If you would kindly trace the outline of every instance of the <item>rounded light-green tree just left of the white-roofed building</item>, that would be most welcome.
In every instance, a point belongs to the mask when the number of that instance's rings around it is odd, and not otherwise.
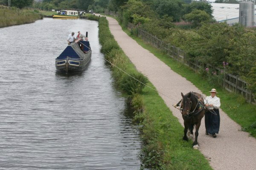
[[[189,14],[184,15],[185,20],[193,23],[195,26],[199,26],[203,21],[209,21],[211,17],[206,11],[195,9]]]

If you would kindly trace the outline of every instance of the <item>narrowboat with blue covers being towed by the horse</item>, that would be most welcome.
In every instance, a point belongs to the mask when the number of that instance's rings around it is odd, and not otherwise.
[[[55,59],[55,67],[61,72],[81,72],[90,63],[92,51],[90,42],[73,42]]]

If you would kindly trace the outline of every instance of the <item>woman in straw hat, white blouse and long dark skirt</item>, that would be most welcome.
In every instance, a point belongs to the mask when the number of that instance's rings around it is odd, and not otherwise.
[[[206,135],[211,134],[215,138],[216,133],[220,129],[220,113],[218,108],[221,106],[221,102],[220,98],[216,96],[218,92],[215,88],[209,92],[211,92],[211,96],[207,96],[204,100],[204,104],[208,108],[204,117],[205,129]]]

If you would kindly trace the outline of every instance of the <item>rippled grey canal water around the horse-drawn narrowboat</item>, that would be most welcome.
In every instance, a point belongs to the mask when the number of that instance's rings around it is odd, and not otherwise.
[[[81,74],[58,74],[72,31],[89,32],[92,60]],[[113,86],[96,21],[44,18],[0,32],[0,169],[140,168],[138,127]]]

